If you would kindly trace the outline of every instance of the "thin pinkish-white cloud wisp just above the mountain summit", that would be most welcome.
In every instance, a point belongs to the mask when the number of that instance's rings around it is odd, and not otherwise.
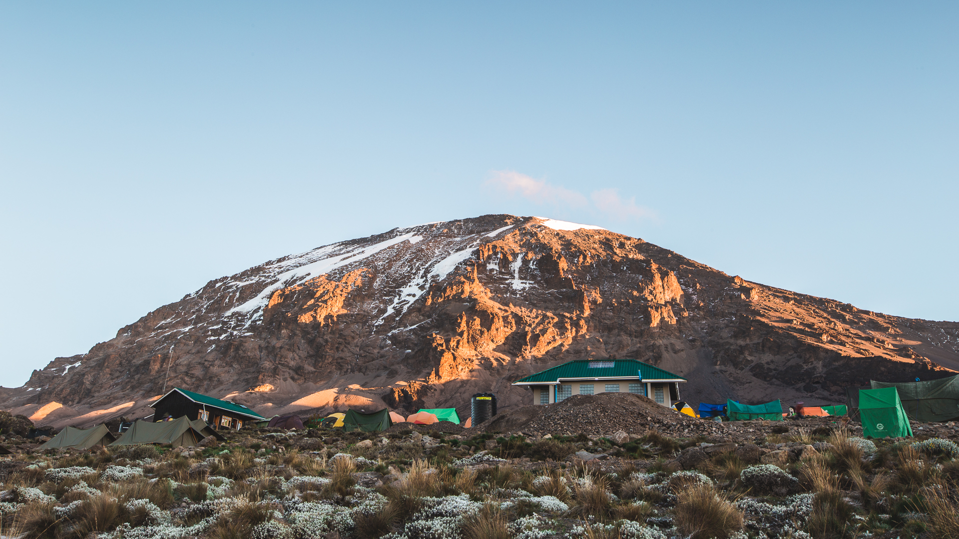
[[[656,217],[652,210],[637,205],[636,197],[620,197],[617,189],[598,189],[587,197],[573,189],[552,185],[545,179],[536,179],[516,171],[494,171],[486,180],[486,185],[509,195],[519,195],[536,204],[551,205],[557,209],[591,210],[617,221]]]

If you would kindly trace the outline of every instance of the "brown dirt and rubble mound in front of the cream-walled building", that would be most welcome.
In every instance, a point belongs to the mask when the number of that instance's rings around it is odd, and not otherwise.
[[[667,409],[633,393],[573,395],[560,403],[509,410],[477,427],[484,433],[613,434],[647,429],[713,430],[712,421]]]

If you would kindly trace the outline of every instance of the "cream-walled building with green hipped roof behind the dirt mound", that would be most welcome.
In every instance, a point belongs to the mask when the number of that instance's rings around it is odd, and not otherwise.
[[[533,404],[560,402],[573,395],[638,393],[669,408],[679,400],[679,385],[686,382],[649,363],[636,360],[574,360],[513,382],[530,387]]]

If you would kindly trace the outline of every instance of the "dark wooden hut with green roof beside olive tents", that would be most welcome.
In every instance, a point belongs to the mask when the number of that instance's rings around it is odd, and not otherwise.
[[[245,422],[266,419],[242,404],[215,399],[181,387],[174,387],[150,406],[154,410],[153,422],[185,416],[191,421],[199,419],[218,430],[238,430]]]

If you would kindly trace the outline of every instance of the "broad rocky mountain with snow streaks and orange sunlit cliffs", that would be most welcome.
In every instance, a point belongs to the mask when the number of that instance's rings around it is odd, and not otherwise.
[[[530,404],[512,381],[583,358],[656,364],[690,380],[693,402],[835,403],[870,379],[959,370],[959,324],[760,285],[598,227],[487,215],[210,281],[0,388],[0,408],[84,424],[145,415],[164,388],[184,387],[266,416],[466,411],[477,391]]]

